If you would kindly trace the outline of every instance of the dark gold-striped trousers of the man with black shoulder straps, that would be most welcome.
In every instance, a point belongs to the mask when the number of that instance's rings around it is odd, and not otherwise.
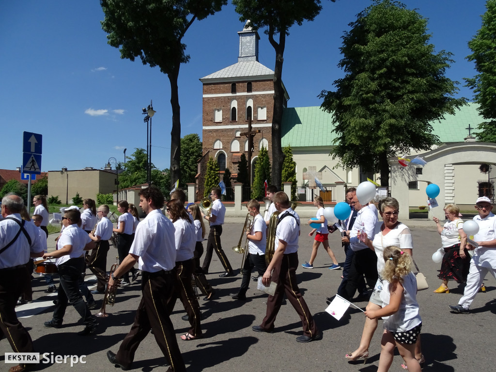
[[[280,267],[275,267],[272,271],[271,281],[275,282],[277,287],[274,296],[267,299],[267,312],[262,320],[261,327],[266,330],[274,329],[274,322],[279,309],[281,309],[284,294],[288,298],[293,308],[296,310],[300,319],[302,319],[303,334],[313,337],[318,334],[317,326],[313,317],[303,299],[296,281],[296,269],[298,267],[298,253],[284,254]],[[377,271],[377,270],[375,270]]]

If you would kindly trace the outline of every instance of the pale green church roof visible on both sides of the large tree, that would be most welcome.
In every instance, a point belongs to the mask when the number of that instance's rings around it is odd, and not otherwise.
[[[473,129],[484,121],[477,111],[478,104],[472,102],[455,110],[455,115],[446,115],[441,121],[432,123],[434,134],[440,142],[463,142],[468,135],[469,124]],[[319,106],[292,107],[284,110],[282,118],[282,145],[291,147],[332,146],[336,133],[332,131],[332,114]]]

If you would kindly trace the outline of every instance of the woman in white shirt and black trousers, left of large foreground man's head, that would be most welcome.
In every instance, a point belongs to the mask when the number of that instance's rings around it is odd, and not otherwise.
[[[132,232],[134,230],[134,218],[131,216],[127,210],[129,209],[129,204],[126,200],[121,200],[117,204],[117,210],[122,213],[117,220],[117,229],[114,228],[114,232],[117,233],[117,252],[119,254],[119,263],[121,263],[124,258],[129,254],[129,249],[132,245]],[[133,280],[136,278],[136,269],[131,267],[129,270],[132,273]],[[130,284],[129,281],[129,271],[123,275],[121,280],[121,286],[126,286]]]

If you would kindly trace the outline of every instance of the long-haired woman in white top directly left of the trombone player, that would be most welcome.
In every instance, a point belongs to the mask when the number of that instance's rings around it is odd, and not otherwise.
[[[193,276],[196,279],[196,286],[200,289],[201,293],[205,296],[203,300],[208,301],[213,299],[214,290],[210,283],[207,281],[203,270],[201,269],[200,258],[203,254],[203,240],[205,239],[205,224],[201,217],[200,207],[198,204],[191,204],[187,208],[188,213],[193,217],[193,225],[196,236],[196,245],[194,247],[194,271]]]

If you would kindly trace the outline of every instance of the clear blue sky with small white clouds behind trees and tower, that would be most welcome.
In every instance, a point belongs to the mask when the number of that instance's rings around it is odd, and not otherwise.
[[[475,73],[467,42],[481,27],[484,0],[405,0],[429,19],[436,52],[454,54],[446,71],[460,82],[459,96],[472,100],[463,78]],[[370,0],[322,0],[313,22],[294,26],[287,38],[283,81],[288,106],[319,106],[321,90],[343,76],[337,67],[343,32]],[[43,134],[42,171],[102,168],[110,157],[124,161],[146,147],[141,109],[153,99],[152,161],[170,166],[172,112],[167,76],[140,60],[122,60],[101,29],[99,1],[19,0],[0,2],[0,168],[22,163],[22,132]],[[182,136],[201,138],[199,78],[237,62],[244,22],[229,4],[195,21],[184,42],[191,60],[181,66]],[[259,62],[274,68],[274,51],[260,32]]]

